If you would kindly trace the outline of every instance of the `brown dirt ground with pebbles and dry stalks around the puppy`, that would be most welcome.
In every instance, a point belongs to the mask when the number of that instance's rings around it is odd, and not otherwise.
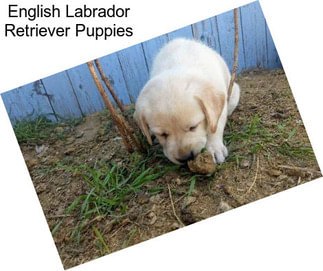
[[[129,163],[107,113],[58,125],[39,145],[21,144],[49,228],[60,225],[54,240],[65,268],[107,254],[94,227],[114,252],[321,176],[284,72],[248,71],[237,81],[241,101],[225,132],[230,156],[215,174],[196,175],[193,183],[185,166],[170,171],[126,197],[125,212],[87,221],[78,240],[71,233],[81,218],[65,210],[89,188],[80,172],[67,167]],[[151,193],[152,187],[159,189]]]

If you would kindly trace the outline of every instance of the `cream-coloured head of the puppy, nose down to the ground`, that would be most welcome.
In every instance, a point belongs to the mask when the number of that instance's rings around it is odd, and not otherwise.
[[[225,104],[224,94],[203,80],[162,75],[141,91],[134,117],[152,144],[154,134],[175,164],[194,158],[215,133]]]

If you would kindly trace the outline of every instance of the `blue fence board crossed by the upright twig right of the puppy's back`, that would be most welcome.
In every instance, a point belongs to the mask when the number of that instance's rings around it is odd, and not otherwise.
[[[240,12],[239,12],[240,17]],[[239,20],[240,21],[240,20]],[[230,71],[233,68],[234,55],[234,14],[233,10],[217,16],[218,31],[220,37],[221,55],[229,66]],[[242,37],[241,24],[239,24],[239,37]],[[239,57],[238,57],[238,73],[245,69],[243,55],[243,42],[239,38]]]

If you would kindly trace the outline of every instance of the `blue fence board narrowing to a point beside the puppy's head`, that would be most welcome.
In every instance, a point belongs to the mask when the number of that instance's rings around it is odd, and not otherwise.
[[[122,73],[126,81],[130,100],[137,99],[139,91],[148,80],[148,68],[140,44],[117,52]]]

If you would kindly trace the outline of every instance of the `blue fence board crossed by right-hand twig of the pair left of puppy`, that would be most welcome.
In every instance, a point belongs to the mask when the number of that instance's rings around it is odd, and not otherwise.
[[[116,54],[110,54],[99,59],[102,69],[105,75],[108,77],[114,91],[118,94],[119,99],[124,104],[130,103],[129,94],[127,91],[127,86],[122,74],[120,63]],[[98,73],[99,74],[99,73]],[[103,83],[106,89],[105,84]],[[113,98],[110,95],[108,89],[106,89],[110,100],[114,103]]]

